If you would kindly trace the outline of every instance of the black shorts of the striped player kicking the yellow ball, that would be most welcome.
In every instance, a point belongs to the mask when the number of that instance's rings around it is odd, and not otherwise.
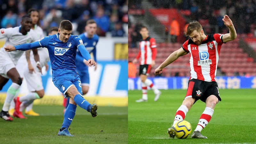
[[[217,82],[205,82],[198,79],[188,81],[186,97],[192,96],[196,99],[195,102],[197,100],[205,102],[210,95],[215,95],[221,101]]]

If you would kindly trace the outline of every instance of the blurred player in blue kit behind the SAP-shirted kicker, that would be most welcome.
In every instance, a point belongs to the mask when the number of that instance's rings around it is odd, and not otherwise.
[[[79,37],[83,40],[84,46],[89,53],[93,53],[94,61],[96,62],[96,45],[99,41],[99,36],[96,35],[97,24],[94,20],[87,20],[85,26],[85,32]],[[97,66],[94,67],[96,70]],[[82,91],[85,95],[89,91],[90,77],[88,71],[87,61],[82,56],[79,50],[76,50],[76,69],[81,79]],[[69,99],[69,98],[67,98]],[[69,100],[64,99],[64,107],[68,107]],[[66,101],[66,102],[65,102]],[[65,109],[64,109],[65,111]]]

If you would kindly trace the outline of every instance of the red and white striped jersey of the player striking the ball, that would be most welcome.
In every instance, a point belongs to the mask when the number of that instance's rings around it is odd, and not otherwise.
[[[208,35],[200,45],[188,39],[182,45],[186,52],[190,52],[190,79],[194,78],[206,82],[216,81],[220,48],[223,44],[222,36],[223,34]]]

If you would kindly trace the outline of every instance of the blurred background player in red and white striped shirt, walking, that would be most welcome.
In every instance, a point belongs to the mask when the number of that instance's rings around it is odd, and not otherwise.
[[[151,67],[154,67],[156,62],[156,40],[148,35],[148,28],[142,26],[140,28],[142,40],[140,41],[140,51],[137,57],[132,61],[136,63],[140,59],[140,79],[142,82],[142,98],[136,102],[148,101],[148,86],[153,89],[155,93],[154,101],[159,99],[161,92],[154,86],[153,82],[148,79]]]

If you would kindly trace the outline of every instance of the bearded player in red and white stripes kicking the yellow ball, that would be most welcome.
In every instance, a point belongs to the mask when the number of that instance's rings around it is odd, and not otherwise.
[[[155,70],[155,74],[161,74],[164,67],[177,60],[180,56],[190,54],[191,75],[188,81],[188,90],[185,99],[176,112],[173,125],[180,120],[184,120],[187,112],[197,100],[205,102],[204,112],[200,116],[191,138],[207,139],[201,134],[201,131],[210,122],[216,104],[221,101],[218,84],[215,80],[220,49],[223,43],[236,39],[236,29],[232,20],[228,15],[225,15],[222,21],[229,29],[227,34],[205,35],[198,21],[189,23],[186,32],[186,36],[189,36],[189,39],[179,50],[170,54]],[[172,138],[175,137],[173,125],[167,130],[169,137]]]

